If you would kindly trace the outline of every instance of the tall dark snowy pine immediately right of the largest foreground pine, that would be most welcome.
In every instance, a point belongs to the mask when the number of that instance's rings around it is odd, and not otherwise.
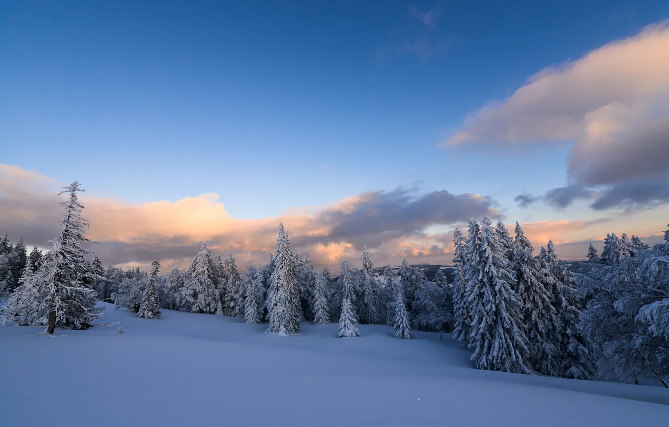
[[[549,242],[551,252],[543,249],[546,262],[555,262],[553,242]],[[529,341],[530,362],[544,375],[559,373],[560,326],[555,307],[551,303],[552,288],[555,286],[551,272],[543,269],[539,259],[533,256],[534,248],[525,236],[520,224],[516,222],[516,239],[514,240],[514,263],[512,268],[516,284],[512,289],[520,301],[524,335]]]

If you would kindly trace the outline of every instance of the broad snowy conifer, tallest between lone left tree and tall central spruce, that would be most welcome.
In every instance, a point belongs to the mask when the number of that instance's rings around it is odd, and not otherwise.
[[[211,254],[206,244],[195,255],[189,267],[189,277],[181,290],[181,298],[190,307],[192,313],[216,313],[219,303],[218,290],[214,284]],[[181,304],[183,307],[183,304]]]

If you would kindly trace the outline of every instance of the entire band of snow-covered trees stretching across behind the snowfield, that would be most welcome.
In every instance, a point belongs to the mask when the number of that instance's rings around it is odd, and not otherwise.
[[[290,248],[280,224],[265,266],[240,272],[231,254],[223,260],[203,244],[189,268],[160,275],[158,260],[147,273],[87,258],[84,190],[76,181],[64,189],[62,232],[45,254],[0,240],[0,298],[9,297],[0,324],[87,329],[98,300],[146,319],[165,309],[239,316],[280,335],[299,333],[303,321],[339,321],[339,337],[360,336],[360,323],[386,324],[399,339],[416,329],[453,331],[480,369],[668,386],[669,230],[653,248],[609,234],[601,256],[590,245],[587,261],[566,263],[551,241],[535,256],[518,223],[512,237],[502,222],[472,219],[467,236],[454,232],[452,280],[439,270],[431,281],[407,260],[379,274],[366,247],[361,269],[344,260],[332,278]]]

